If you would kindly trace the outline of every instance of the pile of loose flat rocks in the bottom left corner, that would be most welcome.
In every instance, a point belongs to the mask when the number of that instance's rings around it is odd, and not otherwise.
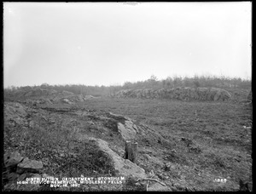
[[[40,174],[43,169],[43,163],[41,161],[30,160],[27,157],[21,157],[20,153],[10,152],[5,153],[3,156],[4,162],[4,189],[15,190],[17,189],[18,181],[26,181],[26,178],[38,178],[41,180],[42,177],[48,176],[47,174]],[[38,184],[19,184],[23,191],[37,191]]]

